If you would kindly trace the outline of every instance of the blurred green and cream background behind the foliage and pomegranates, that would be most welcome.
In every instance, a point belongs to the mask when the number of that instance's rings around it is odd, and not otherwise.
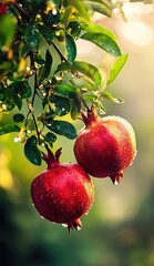
[[[61,225],[42,219],[31,204],[30,185],[45,168],[34,166],[14,143],[16,134],[0,139],[0,265],[2,266],[153,266],[154,265],[154,6],[124,4],[112,19],[94,17],[117,35],[129,60],[107,88],[123,104],[104,102],[106,114],[121,115],[134,127],[137,156],[121,184],[93,178],[95,202],[71,235]],[[113,58],[89,42],[78,42],[79,60],[100,68],[105,76]],[[0,123],[9,115],[0,116]],[[83,124],[75,122],[76,129]],[[59,137],[61,161],[75,162],[74,141]]]

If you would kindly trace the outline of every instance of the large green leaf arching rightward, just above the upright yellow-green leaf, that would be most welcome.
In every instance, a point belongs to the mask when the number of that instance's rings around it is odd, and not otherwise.
[[[84,33],[83,35],[81,35],[81,39],[93,42],[94,44],[96,44],[101,49],[105,50],[107,53],[110,53],[113,57],[121,55],[119,45],[109,35],[105,35],[102,33],[88,32],[88,33]]]

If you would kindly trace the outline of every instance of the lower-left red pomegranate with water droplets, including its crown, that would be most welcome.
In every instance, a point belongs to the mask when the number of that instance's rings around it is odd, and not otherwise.
[[[41,216],[65,224],[70,232],[82,226],[80,217],[91,208],[94,187],[81,166],[60,163],[60,154],[61,149],[55,155],[48,149],[48,155],[43,155],[48,168],[33,180],[31,196]]]

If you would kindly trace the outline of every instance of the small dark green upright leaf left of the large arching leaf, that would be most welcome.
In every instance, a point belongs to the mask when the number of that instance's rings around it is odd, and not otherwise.
[[[76,57],[76,45],[72,35],[65,34],[65,45],[68,60],[72,63]]]

